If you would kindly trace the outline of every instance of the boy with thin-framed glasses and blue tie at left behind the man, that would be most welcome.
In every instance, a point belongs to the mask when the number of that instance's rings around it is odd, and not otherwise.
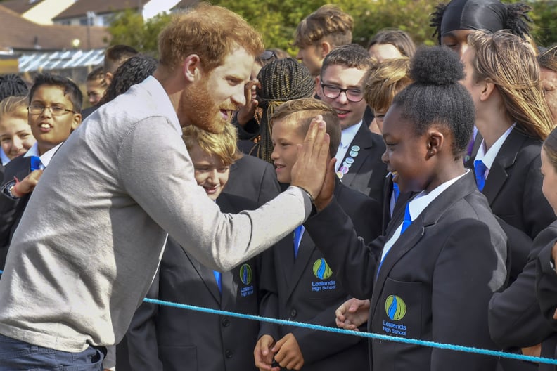
[[[6,166],[0,197],[1,209],[14,211],[8,240],[27,206],[34,186],[60,145],[81,123],[82,92],[66,77],[39,74],[29,93],[27,121],[37,142],[25,155],[15,157]],[[11,206],[10,206],[11,204]],[[2,236],[4,237],[4,236]],[[4,267],[1,267],[4,268]]]

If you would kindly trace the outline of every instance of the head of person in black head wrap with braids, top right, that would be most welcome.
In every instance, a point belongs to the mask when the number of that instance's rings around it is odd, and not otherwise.
[[[468,48],[468,35],[474,30],[510,30],[532,42],[530,6],[523,3],[503,4],[499,0],[452,0],[438,4],[431,15],[430,26],[435,27],[440,45],[448,46],[462,56]],[[532,42],[533,44],[533,42]],[[532,45],[533,46],[533,45]],[[535,49],[535,47],[534,47]]]

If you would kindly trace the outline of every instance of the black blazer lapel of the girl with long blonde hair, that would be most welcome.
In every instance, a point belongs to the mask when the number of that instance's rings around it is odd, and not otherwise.
[[[487,197],[489,205],[494,202],[499,194],[499,190],[501,190],[501,187],[505,184],[508,178],[508,168],[513,166],[518,151],[523,147],[525,139],[526,137],[520,134],[515,128],[508,134],[508,137],[499,149],[497,157],[495,157],[492,164],[492,168],[489,169],[489,174],[487,175],[485,186],[482,190],[482,193]]]

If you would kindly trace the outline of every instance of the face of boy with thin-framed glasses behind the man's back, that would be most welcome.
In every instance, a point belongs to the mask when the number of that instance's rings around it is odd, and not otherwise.
[[[60,115],[53,115],[50,108],[61,109]],[[42,113],[29,113],[28,121],[33,136],[37,139],[39,154],[65,141],[81,123],[81,115],[72,112],[74,107],[64,89],[60,86],[41,85],[31,97],[30,108],[44,108]],[[68,111],[64,111],[68,110]]]

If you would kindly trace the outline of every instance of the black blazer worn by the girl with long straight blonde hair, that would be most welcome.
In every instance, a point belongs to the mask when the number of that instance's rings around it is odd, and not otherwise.
[[[532,242],[515,243],[525,240],[521,232],[531,241],[555,219],[542,194],[541,150],[542,141],[515,127],[497,153],[482,190],[493,214],[507,224],[501,226],[511,247],[511,281],[526,265],[532,247]],[[467,166],[473,169],[473,160]]]

